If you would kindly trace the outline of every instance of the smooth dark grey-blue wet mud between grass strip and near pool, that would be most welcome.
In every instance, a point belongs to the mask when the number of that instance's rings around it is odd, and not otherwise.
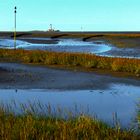
[[[111,84],[140,86],[140,80],[45,66],[0,63],[1,89],[105,90]]]

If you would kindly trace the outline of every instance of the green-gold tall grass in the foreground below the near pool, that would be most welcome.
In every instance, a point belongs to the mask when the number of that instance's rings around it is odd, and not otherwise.
[[[63,119],[51,115],[51,107],[47,106],[48,114],[37,112],[38,108],[22,105],[22,115],[15,115],[10,108],[0,107],[0,139],[1,140],[138,140],[138,134],[111,128],[97,119],[88,116],[77,116]],[[24,108],[24,109],[23,109]],[[42,108],[42,107],[41,107]],[[46,110],[41,110],[45,112]]]

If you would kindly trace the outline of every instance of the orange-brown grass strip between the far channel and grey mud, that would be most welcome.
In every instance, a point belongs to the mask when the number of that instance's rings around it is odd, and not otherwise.
[[[0,49],[0,60],[44,65],[76,66],[128,72],[140,76],[140,59],[100,57],[93,54]]]

